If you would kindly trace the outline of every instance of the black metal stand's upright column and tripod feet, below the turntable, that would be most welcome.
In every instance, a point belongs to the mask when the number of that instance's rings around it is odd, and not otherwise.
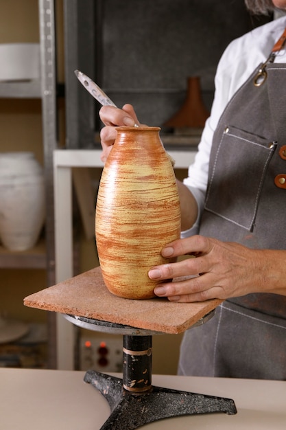
[[[174,416],[236,414],[230,398],[151,385],[152,336],[123,336],[123,379],[88,370],[84,376],[106,398],[111,414],[101,430],[132,430]]]

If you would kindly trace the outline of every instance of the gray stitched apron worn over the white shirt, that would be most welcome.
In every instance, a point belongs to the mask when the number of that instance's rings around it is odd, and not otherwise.
[[[217,125],[200,234],[286,249],[286,65],[268,64],[256,87],[259,67]],[[286,297],[226,300],[213,319],[185,332],[178,373],[286,380]]]

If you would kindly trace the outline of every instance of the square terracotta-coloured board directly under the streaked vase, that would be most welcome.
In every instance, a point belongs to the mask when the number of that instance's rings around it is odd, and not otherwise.
[[[169,334],[184,332],[221,302],[219,299],[196,303],[169,302],[165,298],[122,299],[108,291],[100,267],[24,299],[25,306],[32,308]]]

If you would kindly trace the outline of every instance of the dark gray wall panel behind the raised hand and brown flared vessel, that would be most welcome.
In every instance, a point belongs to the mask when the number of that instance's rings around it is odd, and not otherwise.
[[[200,76],[208,109],[217,62],[226,45],[265,19],[243,0],[104,0],[99,84],[141,122],[161,126],[184,100],[188,76]],[[269,19],[267,19],[269,20]]]

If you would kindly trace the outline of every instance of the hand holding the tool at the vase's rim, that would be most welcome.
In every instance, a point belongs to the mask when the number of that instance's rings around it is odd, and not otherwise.
[[[115,142],[117,132],[116,126],[134,127],[134,124],[141,125],[131,104],[124,104],[122,109],[114,106],[102,106],[99,117],[105,127],[100,131],[100,141],[102,143],[101,160],[105,163]]]

